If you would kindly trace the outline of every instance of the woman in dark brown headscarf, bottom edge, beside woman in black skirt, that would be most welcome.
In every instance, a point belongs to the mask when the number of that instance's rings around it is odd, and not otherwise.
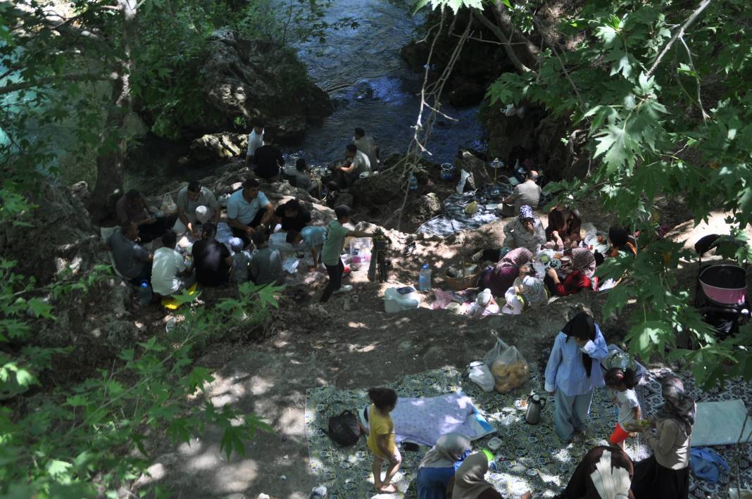
[[[629,490],[634,474],[626,452],[598,446],[584,455],[569,484],[555,499],[634,499]]]

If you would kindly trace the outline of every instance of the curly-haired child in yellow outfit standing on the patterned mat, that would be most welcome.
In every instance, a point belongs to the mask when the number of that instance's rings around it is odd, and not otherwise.
[[[368,449],[374,455],[374,487],[380,492],[396,492],[392,479],[399,470],[402,456],[399,454],[394,441],[394,423],[389,415],[397,405],[397,394],[388,388],[372,388],[368,390],[371,407],[368,409]],[[387,474],[381,480],[381,464],[387,461]]]

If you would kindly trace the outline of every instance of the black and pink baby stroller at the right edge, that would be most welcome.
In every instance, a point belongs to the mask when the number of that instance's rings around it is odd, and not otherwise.
[[[720,243],[718,234],[701,237],[695,243],[699,259],[695,286],[695,307],[716,331],[718,340],[734,336],[740,322],[750,317],[747,301],[747,270],[738,265],[702,265],[702,256]]]

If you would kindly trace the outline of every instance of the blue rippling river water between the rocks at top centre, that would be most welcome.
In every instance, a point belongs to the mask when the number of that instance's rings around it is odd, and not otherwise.
[[[344,157],[356,126],[376,139],[382,157],[404,153],[420,106],[423,73],[411,71],[399,50],[414,38],[421,14],[412,16],[408,5],[387,0],[335,0],[326,20],[332,23],[345,16],[359,26],[329,30],[323,45],[309,41],[298,47],[314,82],[323,89],[338,89],[329,93],[335,113],[320,126],[309,127],[299,145],[313,162]],[[434,127],[429,159],[450,162],[458,147],[485,149],[478,107],[445,105],[442,111],[459,121],[441,119]]]

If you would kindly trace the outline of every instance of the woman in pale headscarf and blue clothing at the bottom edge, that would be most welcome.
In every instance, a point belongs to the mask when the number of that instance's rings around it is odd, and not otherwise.
[[[470,453],[470,439],[458,433],[438,437],[418,464],[418,499],[447,499],[447,485]]]

